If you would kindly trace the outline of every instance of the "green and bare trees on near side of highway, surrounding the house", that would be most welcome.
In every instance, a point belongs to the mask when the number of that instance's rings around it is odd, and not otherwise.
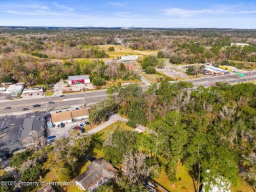
[[[28,141],[36,145],[27,145],[26,151],[11,159],[21,180],[37,181],[50,170],[58,181],[71,180],[77,176],[79,159],[93,155],[96,148],[106,161],[120,168],[113,180],[96,191],[148,191],[143,183],[158,178],[161,170],[175,183],[179,163],[196,180],[198,191],[202,183],[221,176],[232,185],[242,178],[255,189],[255,85],[217,83],[192,89],[190,83],[163,81],[146,92],[137,84],[111,86],[108,94],[107,100],[90,109],[91,123],[118,112],[129,119],[127,125],[144,125],[148,130],[139,134],[117,127],[104,138],[98,134],[79,139],[72,136],[48,146],[33,133]],[[0,180],[10,177],[5,174]],[[0,189],[11,191],[5,186]]]

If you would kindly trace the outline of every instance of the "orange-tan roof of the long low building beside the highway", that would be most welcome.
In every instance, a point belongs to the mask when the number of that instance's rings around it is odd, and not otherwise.
[[[52,123],[61,122],[61,121],[68,121],[75,117],[83,117],[89,116],[89,111],[87,108],[85,109],[75,109],[73,111],[64,111],[61,113],[53,113],[51,115]]]

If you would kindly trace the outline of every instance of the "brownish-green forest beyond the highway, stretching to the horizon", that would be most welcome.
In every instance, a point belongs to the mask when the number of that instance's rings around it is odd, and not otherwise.
[[[55,83],[85,73],[88,62],[74,58],[108,58],[99,45],[159,50],[173,64],[215,62],[251,68],[256,62],[256,31],[245,29],[0,29],[0,82],[27,85]],[[249,43],[230,47],[230,43]],[[67,64],[68,63],[68,64]],[[101,62],[96,62],[101,63]],[[95,63],[91,62],[91,66]],[[79,66],[79,67],[78,67]],[[255,66],[255,65],[253,65]],[[148,73],[154,69],[148,68]],[[90,73],[98,73],[91,70]],[[90,75],[90,73],[88,73]],[[98,74],[99,75],[99,74]],[[133,74],[126,75],[133,78]],[[108,75],[101,78],[108,79]],[[114,77],[119,78],[119,77]],[[111,77],[110,77],[111,79]]]

